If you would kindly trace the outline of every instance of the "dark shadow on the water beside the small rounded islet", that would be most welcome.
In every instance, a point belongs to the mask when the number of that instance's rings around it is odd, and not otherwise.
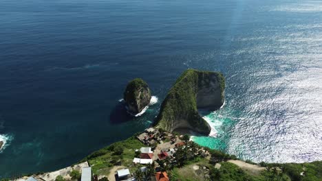
[[[125,123],[131,119],[133,119],[133,116],[127,113],[127,108],[125,107],[124,102],[119,102],[109,114],[109,121],[112,124]]]

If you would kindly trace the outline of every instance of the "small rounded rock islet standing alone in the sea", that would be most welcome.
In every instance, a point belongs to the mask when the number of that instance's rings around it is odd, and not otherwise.
[[[129,113],[140,113],[146,106],[149,106],[151,100],[151,90],[148,84],[140,78],[131,80],[125,89],[124,100]]]

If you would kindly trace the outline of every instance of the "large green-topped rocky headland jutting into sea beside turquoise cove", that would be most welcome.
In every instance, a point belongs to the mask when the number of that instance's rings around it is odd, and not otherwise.
[[[184,71],[162,102],[157,128],[208,135],[211,128],[197,109],[219,109],[224,104],[224,88],[222,73],[194,69]]]

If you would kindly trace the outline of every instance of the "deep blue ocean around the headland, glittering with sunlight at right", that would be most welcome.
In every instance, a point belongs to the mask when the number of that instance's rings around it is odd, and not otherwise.
[[[52,171],[151,125],[188,68],[226,104],[197,143],[255,162],[322,160],[322,1],[1,0],[0,178]],[[158,104],[119,103],[142,77]]]

